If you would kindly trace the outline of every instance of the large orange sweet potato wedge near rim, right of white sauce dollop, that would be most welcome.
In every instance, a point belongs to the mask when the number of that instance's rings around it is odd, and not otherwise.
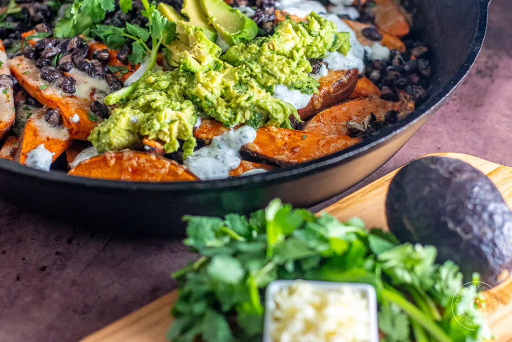
[[[254,142],[244,145],[242,150],[280,166],[289,166],[341,151],[360,142],[360,138],[347,135],[324,135],[265,126],[258,130]]]

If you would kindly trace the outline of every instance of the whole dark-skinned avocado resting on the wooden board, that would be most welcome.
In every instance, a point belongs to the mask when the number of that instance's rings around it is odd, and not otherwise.
[[[494,286],[512,267],[512,212],[489,178],[461,160],[432,156],[404,166],[390,184],[386,216],[400,242],[436,246],[438,261],[453,260],[465,281],[479,272]]]

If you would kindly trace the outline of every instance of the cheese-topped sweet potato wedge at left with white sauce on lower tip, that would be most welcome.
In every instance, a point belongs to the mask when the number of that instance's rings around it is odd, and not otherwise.
[[[14,158],[19,164],[25,164],[27,153],[40,144],[44,144],[48,151],[54,153],[53,162],[71,145],[72,140],[66,127],[53,127],[47,123],[46,111],[47,108],[43,107],[32,114],[20,133],[19,146]]]

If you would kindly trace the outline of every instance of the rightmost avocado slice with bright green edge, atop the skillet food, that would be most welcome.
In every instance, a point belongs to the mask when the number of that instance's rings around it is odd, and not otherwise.
[[[185,0],[186,1],[186,0]],[[233,46],[248,43],[258,34],[258,25],[238,9],[223,0],[199,0],[208,21],[224,41]]]

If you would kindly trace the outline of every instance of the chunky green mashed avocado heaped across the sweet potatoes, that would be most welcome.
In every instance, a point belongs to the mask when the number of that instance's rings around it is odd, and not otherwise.
[[[272,97],[273,86],[312,94],[318,83],[308,75],[307,58],[350,48],[348,36],[314,13],[305,23],[287,20],[272,36],[233,46],[223,56],[201,28],[178,22],[176,33],[166,53],[175,69],[142,79],[91,132],[89,140],[99,153],[138,148],[141,136],[148,136],[165,142],[167,153],[177,151],[183,140],[186,158],[196,145],[193,127],[200,111],[229,127],[290,128],[290,115],[300,117],[292,105]]]

